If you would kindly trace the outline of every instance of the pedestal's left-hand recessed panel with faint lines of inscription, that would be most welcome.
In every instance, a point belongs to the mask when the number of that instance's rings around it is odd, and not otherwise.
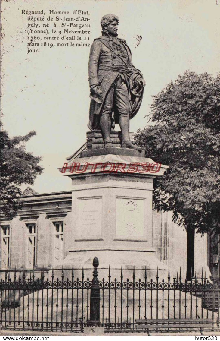
[[[77,198],[78,219],[76,239],[92,240],[101,237],[102,197]]]

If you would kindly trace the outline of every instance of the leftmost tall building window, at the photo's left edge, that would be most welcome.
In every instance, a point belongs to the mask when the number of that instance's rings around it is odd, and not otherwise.
[[[10,225],[1,226],[1,269],[7,269],[10,265]]]

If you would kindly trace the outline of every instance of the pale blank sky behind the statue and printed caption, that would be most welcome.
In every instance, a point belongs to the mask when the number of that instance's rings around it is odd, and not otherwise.
[[[36,131],[26,149],[42,156],[44,173],[31,186],[38,193],[71,190],[71,180],[58,167],[86,141],[89,47],[27,54],[28,21],[22,9],[89,11],[90,42],[101,34],[104,14],[119,16],[119,37],[126,40],[133,64],[146,80],[141,108],[130,121],[133,132],[147,124],[152,96],[178,75],[186,70],[219,72],[219,0],[2,1],[1,121],[11,137]]]

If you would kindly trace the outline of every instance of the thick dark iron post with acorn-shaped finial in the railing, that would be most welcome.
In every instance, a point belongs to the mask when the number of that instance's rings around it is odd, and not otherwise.
[[[100,323],[100,288],[98,281],[98,258],[93,259],[94,266],[92,286],[90,292],[90,323]]]

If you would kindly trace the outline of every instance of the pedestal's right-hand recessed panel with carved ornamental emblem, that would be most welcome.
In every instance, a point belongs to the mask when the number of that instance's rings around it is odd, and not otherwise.
[[[144,199],[116,198],[116,238],[144,237]]]

